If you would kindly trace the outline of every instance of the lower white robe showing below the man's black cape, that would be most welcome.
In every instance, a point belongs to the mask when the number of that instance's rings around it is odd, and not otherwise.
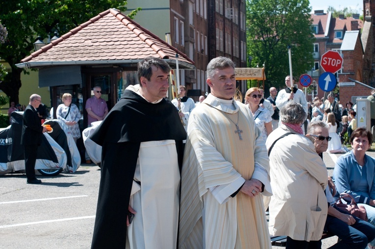
[[[137,212],[127,228],[126,248],[176,248],[179,183],[174,140],[141,143],[129,205]],[[124,211],[127,207],[124,207]]]

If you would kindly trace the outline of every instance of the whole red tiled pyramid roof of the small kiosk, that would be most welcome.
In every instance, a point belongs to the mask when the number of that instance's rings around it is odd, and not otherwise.
[[[194,64],[184,53],[141,27],[116,9],[108,9],[57,40],[31,53],[21,62],[69,62],[142,60],[148,56]],[[72,63],[73,64],[73,63]]]

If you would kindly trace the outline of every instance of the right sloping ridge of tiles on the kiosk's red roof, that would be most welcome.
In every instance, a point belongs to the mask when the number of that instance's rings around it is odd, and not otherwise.
[[[160,55],[161,58],[170,58],[159,46],[157,46],[154,42],[150,40],[144,33],[151,36],[152,38],[160,41],[162,44],[164,44],[166,47],[168,47],[171,50],[174,50],[176,53],[183,54],[185,56],[185,59],[188,59],[191,63],[194,64],[194,61],[192,61],[185,53],[182,51],[177,50],[172,45],[169,45],[167,42],[160,39],[157,35],[153,34],[148,30],[147,28],[142,27],[134,20],[131,20],[129,17],[125,16],[123,13],[119,12],[117,9],[109,9],[111,14],[113,14],[117,19],[119,19],[123,24],[125,24],[130,30],[132,30],[140,39],[142,39],[144,42],[146,42],[150,48],[152,48],[156,53]],[[121,17],[118,17],[121,15]],[[137,30],[138,29],[138,30]]]

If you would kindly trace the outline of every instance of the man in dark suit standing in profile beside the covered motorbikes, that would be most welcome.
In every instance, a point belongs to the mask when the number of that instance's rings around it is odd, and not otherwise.
[[[41,103],[42,98],[33,94],[30,96],[24,112],[24,125],[22,127],[21,144],[24,146],[25,154],[25,171],[27,183],[40,184],[41,180],[35,177],[35,162],[38,146],[42,143],[42,133],[47,131],[45,126],[42,126],[36,108]]]

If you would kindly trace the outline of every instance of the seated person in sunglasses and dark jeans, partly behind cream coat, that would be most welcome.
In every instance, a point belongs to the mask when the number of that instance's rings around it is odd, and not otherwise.
[[[306,137],[314,143],[315,151],[320,154],[327,150],[329,135],[327,125],[324,122],[311,122],[307,128]],[[328,139],[327,139],[328,138]],[[328,185],[334,191],[332,179],[328,177]],[[328,202],[328,213],[325,221],[325,232],[339,237],[340,241],[329,249],[364,249],[369,241],[375,238],[375,226],[360,220],[348,212],[337,208],[328,186],[325,196]],[[332,193],[334,195],[334,193]]]

